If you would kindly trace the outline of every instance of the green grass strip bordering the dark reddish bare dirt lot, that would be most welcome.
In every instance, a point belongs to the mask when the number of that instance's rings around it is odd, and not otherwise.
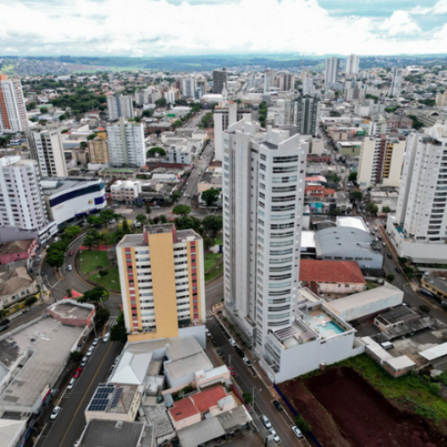
[[[347,358],[337,365],[352,367],[387,399],[410,404],[416,414],[434,419],[436,423],[447,420],[447,401],[431,392],[429,384],[416,374],[410,372],[393,378],[366,354]]]

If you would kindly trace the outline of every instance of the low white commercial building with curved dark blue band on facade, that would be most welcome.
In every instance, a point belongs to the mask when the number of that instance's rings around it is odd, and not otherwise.
[[[48,213],[55,224],[85,217],[107,205],[105,186],[101,179],[69,178],[41,181]]]

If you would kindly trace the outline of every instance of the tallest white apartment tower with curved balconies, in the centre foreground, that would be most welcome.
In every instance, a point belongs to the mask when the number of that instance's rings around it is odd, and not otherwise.
[[[295,317],[307,148],[257,122],[223,132],[224,304],[260,356]]]

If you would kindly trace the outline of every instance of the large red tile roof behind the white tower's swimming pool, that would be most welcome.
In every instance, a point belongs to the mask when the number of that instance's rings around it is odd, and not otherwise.
[[[301,259],[299,281],[305,283],[365,284],[365,278],[355,261],[319,261]]]

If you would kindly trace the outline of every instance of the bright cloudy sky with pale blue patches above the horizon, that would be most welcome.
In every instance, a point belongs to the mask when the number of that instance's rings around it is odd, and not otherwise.
[[[0,0],[0,55],[447,53],[447,0]]]

